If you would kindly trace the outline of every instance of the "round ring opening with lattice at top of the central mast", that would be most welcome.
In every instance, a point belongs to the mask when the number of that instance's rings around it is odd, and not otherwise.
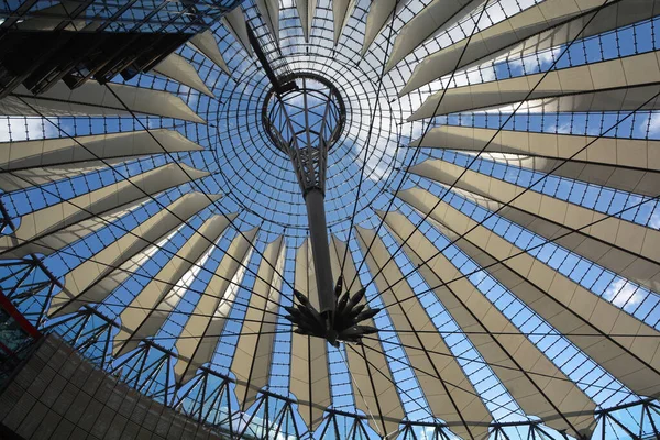
[[[346,116],[337,88],[315,74],[296,74],[283,88],[286,91],[271,88],[264,101],[262,118],[271,142],[285,153],[323,145],[330,151]]]

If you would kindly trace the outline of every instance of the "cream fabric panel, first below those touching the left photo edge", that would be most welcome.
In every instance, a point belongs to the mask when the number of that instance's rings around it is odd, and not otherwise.
[[[51,300],[50,316],[62,316],[77,310],[87,302],[100,302],[114,290],[121,279],[131,274],[127,262],[153,246],[164,237],[180,227],[182,220],[187,220],[211,204],[220,196],[209,197],[201,193],[189,193],[182,196],[166,209],[133,228],[119,240],[108,244],[94,256],[66,274],[64,289]],[[235,217],[235,215],[232,215]],[[144,263],[146,258],[139,258],[134,263]],[[130,263],[129,263],[130,264]],[[114,268],[118,267],[118,268]],[[127,270],[127,271],[124,271]],[[103,283],[105,278],[106,282]],[[99,285],[102,283],[102,285]]]

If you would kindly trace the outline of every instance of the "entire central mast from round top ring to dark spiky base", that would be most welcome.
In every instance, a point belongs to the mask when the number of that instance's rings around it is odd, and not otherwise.
[[[271,142],[286,153],[296,173],[309,221],[314,255],[318,310],[308,297],[295,292],[298,304],[287,307],[287,319],[297,333],[338,341],[361,342],[362,336],[377,331],[359,322],[372,318],[377,309],[359,305],[364,290],[342,295],[342,277],[334,283],[330,264],[326,221],[326,172],[328,152],[341,136],[345,106],[337,88],[314,74],[294,74],[277,80],[264,101],[263,124]]]

